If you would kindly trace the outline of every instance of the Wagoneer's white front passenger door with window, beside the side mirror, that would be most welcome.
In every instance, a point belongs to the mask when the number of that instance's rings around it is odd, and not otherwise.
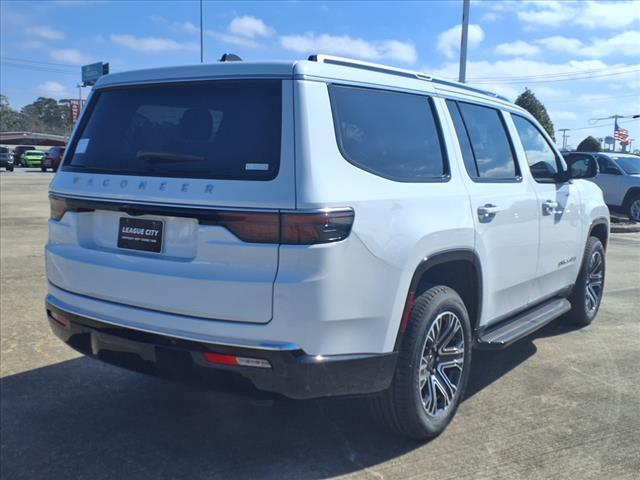
[[[511,114],[517,150],[528,164],[530,183],[538,198],[540,255],[536,299],[555,295],[572,285],[582,260],[583,225],[580,192],[572,180],[559,180],[560,155],[539,126],[524,116]],[[524,163],[524,162],[522,162]]]

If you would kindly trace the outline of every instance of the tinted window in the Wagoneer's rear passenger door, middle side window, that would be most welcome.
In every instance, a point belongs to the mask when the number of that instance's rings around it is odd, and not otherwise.
[[[500,112],[458,102],[477,168],[476,178],[515,180],[520,176]]]

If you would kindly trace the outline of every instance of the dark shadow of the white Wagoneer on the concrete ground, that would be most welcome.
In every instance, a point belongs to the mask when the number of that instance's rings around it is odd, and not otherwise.
[[[475,352],[467,398],[535,351]],[[423,445],[378,427],[362,399],[254,400],[89,358],[5,377],[0,392],[3,478],[310,480]]]

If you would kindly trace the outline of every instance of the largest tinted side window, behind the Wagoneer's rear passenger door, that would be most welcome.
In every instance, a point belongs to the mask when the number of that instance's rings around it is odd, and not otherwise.
[[[339,85],[329,92],[338,146],[347,161],[404,182],[448,175],[431,99]]]

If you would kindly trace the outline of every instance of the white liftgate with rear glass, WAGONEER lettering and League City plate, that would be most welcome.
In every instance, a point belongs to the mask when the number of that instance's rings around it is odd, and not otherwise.
[[[50,282],[181,315],[272,316],[295,208],[291,80],[98,90],[55,177]],[[276,236],[274,236],[276,235]]]

